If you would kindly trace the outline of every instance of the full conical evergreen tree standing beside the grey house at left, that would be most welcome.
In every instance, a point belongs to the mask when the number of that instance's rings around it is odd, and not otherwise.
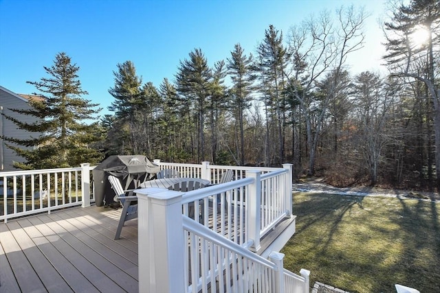
[[[41,99],[30,99],[32,110],[11,109],[16,113],[32,115],[39,122],[28,124],[14,117],[5,116],[14,121],[20,129],[34,132],[30,139],[3,137],[14,143],[8,147],[25,163],[14,163],[19,169],[47,169],[54,167],[77,167],[80,163],[97,163],[102,158],[100,152],[91,148],[100,140],[98,124],[87,124],[85,120],[94,119],[100,109],[98,104],[82,96],[87,91],[81,88],[78,80],[79,67],[72,65],[71,58],[64,52],[56,54],[54,65],[44,67],[48,77],[39,82],[28,82],[36,87]],[[19,145],[19,146],[17,146]],[[35,148],[20,148],[35,147]]]

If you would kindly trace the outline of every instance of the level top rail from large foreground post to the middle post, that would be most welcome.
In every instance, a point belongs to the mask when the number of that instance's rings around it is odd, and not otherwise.
[[[206,198],[208,196],[214,196],[221,192],[225,192],[234,188],[243,187],[246,185],[250,185],[254,182],[254,178],[243,178],[239,180],[234,180],[228,183],[223,183],[219,185],[212,185],[200,189],[196,189],[193,191],[188,191],[182,196],[182,203],[187,204],[189,202],[193,202],[195,200],[199,200],[201,198]]]

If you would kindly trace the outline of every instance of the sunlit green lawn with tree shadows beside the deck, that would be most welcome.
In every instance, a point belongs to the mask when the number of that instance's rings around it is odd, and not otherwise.
[[[440,292],[440,203],[294,194],[285,268],[349,292]]]

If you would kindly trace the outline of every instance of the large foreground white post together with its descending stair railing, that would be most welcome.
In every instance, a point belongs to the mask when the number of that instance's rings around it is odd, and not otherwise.
[[[181,215],[186,194],[136,193],[140,292],[309,292],[309,272],[285,270],[283,254],[267,260],[246,249],[250,243],[236,244]]]

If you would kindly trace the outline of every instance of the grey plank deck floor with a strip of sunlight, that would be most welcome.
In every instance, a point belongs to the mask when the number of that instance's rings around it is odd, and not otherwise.
[[[70,208],[0,223],[0,292],[138,292],[137,220]]]

